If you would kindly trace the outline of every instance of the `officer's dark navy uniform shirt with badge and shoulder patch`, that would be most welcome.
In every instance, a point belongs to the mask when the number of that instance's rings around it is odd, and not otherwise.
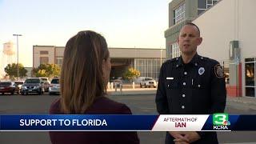
[[[162,64],[156,105],[159,114],[214,114],[226,106],[226,83],[222,66],[213,59],[194,55]]]

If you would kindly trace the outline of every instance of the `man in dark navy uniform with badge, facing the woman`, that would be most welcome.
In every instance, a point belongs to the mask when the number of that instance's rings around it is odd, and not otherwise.
[[[162,64],[156,105],[159,114],[214,114],[226,106],[222,66],[199,56],[200,30],[193,23],[182,27],[178,37],[182,55]],[[218,143],[216,132],[167,132],[169,143]]]

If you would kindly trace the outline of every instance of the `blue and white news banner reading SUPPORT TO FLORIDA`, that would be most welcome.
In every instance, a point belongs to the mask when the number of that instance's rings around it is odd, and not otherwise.
[[[256,115],[0,115],[1,131],[233,131],[256,130]]]

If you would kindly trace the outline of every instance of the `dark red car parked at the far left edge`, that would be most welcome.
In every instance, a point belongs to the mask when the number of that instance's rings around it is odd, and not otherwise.
[[[5,93],[18,94],[18,92],[19,92],[18,85],[16,85],[15,82],[0,82],[1,94],[5,94]]]

